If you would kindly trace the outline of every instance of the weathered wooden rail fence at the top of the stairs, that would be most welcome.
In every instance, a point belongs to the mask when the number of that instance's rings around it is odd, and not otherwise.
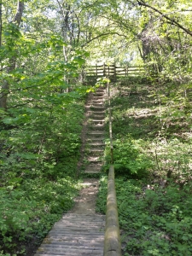
[[[113,80],[117,80],[118,78],[128,77],[128,76],[141,76],[145,74],[144,67],[117,67],[113,65],[96,65],[86,67],[84,70],[84,74],[86,78],[101,78],[108,77]]]

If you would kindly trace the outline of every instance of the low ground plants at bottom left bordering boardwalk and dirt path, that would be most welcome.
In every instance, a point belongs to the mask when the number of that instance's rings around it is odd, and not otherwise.
[[[32,236],[44,238],[62,212],[73,206],[77,189],[70,177],[58,178],[55,182],[43,177],[27,178],[20,189],[13,186],[1,189],[1,246],[11,253],[20,242]]]

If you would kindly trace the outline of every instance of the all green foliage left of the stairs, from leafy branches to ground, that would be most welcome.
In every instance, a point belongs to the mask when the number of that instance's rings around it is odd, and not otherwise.
[[[0,110],[0,254],[24,255],[34,238],[40,242],[73,207],[79,190],[77,163],[89,88],[77,78],[87,54],[74,50],[66,62],[61,36],[50,32],[39,39],[14,24],[4,29],[1,63],[17,65],[0,74],[11,91],[7,111]],[[75,83],[69,84],[68,77]]]

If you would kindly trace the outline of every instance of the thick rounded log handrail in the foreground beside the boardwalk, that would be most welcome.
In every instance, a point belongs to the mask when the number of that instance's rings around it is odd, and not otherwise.
[[[119,218],[113,166],[110,166],[108,172],[108,198],[103,256],[121,256]]]

